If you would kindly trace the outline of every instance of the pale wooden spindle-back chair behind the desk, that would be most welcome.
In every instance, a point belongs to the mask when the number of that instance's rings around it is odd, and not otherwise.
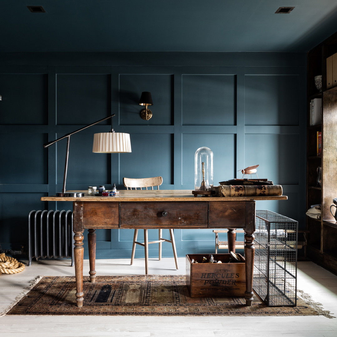
[[[161,185],[163,182],[162,177],[152,177],[152,178],[140,178],[140,179],[134,179],[134,178],[123,178],[123,184],[127,189],[148,189],[148,187],[151,187],[153,189],[154,186],[159,189],[159,185]],[[138,229],[134,230],[134,235],[133,235],[133,244],[132,244],[132,254],[131,254],[131,265],[133,264],[133,259],[134,259],[134,253],[136,250],[136,245],[141,245],[144,247],[145,250],[145,274],[148,274],[148,259],[149,259],[149,244],[151,243],[159,243],[159,260],[161,260],[161,246],[163,242],[170,242],[172,244],[172,249],[173,249],[173,255],[174,255],[174,260],[176,262],[176,268],[179,269],[178,267],[178,258],[177,258],[177,251],[176,251],[176,244],[174,241],[174,234],[173,234],[173,229],[169,229],[170,231],[170,236],[171,240],[168,239],[163,239],[162,238],[162,229],[158,228],[158,240],[157,241],[148,241],[148,230],[144,229],[144,243],[143,242],[138,242],[137,241],[137,235],[138,235]]]

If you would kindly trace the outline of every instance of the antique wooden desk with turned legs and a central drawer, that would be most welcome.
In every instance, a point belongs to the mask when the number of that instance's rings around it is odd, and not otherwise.
[[[83,192],[83,191],[81,191]],[[83,305],[83,232],[87,228],[90,281],[95,282],[97,228],[228,228],[228,249],[235,251],[235,229],[245,232],[246,305],[253,301],[255,201],[286,196],[194,197],[190,190],[122,190],[116,197],[42,197],[72,201],[77,306]]]

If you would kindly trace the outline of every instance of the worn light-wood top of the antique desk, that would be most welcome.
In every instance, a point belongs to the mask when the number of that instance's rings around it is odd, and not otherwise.
[[[286,195],[280,196],[235,196],[235,197],[205,197],[198,195],[195,197],[192,190],[120,190],[116,196],[95,196],[88,194],[88,191],[68,191],[84,192],[83,197],[60,197],[43,196],[41,201],[251,201],[251,200],[287,200]]]

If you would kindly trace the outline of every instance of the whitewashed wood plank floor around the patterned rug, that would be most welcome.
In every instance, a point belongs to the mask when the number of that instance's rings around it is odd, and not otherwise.
[[[144,274],[144,259],[96,261],[97,275]],[[185,274],[185,258],[149,259],[150,274]],[[84,270],[89,271],[85,260]],[[85,272],[86,273],[86,272]],[[0,312],[15,300],[37,275],[74,275],[69,261],[41,260],[18,274],[0,274]],[[298,289],[310,294],[337,316],[337,276],[312,262],[298,263]],[[336,337],[337,318],[324,316],[264,317],[151,317],[151,316],[2,316],[1,337]]]

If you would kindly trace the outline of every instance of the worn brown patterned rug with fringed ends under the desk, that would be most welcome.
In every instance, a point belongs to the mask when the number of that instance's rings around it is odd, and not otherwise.
[[[95,283],[84,281],[84,303],[75,304],[75,278],[45,276],[7,315],[209,315],[209,316],[302,316],[319,315],[319,307],[298,299],[296,307],[267,307],[255,294],[253,305],[245,299],[191,298],[184,275],[97,276]],[[315,307],[315,308],[314,308]],[[317,310],[318,308],[318,310]]]

